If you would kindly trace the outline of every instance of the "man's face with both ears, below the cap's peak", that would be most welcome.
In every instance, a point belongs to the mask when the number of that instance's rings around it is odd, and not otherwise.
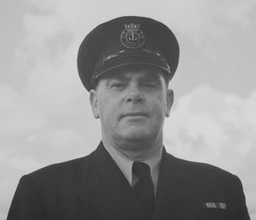
[[[93,115],[100,118],[108,142],[154,142],[163,138],[173,92],[160,70],[120,68],[100,79],[90,91]]]

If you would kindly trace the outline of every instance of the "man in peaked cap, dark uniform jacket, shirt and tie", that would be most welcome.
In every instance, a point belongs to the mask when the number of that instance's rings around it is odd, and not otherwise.
[[[241,181],[166,153],[179,45],[163,23],[121,17],[85,37],[79,76],[102,142],[21,177],[7,219],[249,219]]]

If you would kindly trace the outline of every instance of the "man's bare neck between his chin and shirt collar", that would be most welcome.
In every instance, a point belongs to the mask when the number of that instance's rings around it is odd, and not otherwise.
[[[154,141],[142,141],[142,142],[128,142],[124,140],[118,140],[117,142],[107,139],[102,136],[102,142],[109,144],[111,147],[115,147],[124,155],[127,155],[132,161],[144,161],[155,153],[160,147],[163,147],[163,136],[160,136]]]

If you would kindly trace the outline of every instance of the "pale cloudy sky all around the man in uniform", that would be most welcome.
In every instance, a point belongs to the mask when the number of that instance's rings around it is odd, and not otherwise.
[[[0,219],[22,175],[99,144],[77,51],[95,26],[122,15],[161,21],[179,42],[166,150],[238,175],[256,219],[254,0],[0,1]]]

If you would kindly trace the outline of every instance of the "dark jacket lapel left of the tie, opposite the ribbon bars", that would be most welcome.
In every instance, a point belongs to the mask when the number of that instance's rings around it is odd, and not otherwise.
[[[90,156],[87,180],[74,188],[96,219],[144,219],[146,213],[102,142]]]

